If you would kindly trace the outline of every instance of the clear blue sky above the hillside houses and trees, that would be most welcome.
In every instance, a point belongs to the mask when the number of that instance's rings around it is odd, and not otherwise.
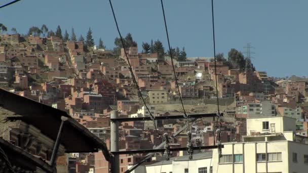
[[[189,57],[212,57],[211,0],[164,4],[171,46],[185,47]],[[307,7],[306,0],[214,0],[217,52],[245,52],[250,42],[257,70],[270,76],[308,76]],[[140,47],[142,41],[160,39],[167,48],[160,0],[113,0],[113,8],[122,35],[131,32]],[[1,9],[0,23],[20,33],[42,24],[54,31],[60,25],[63,33],[73,27],[78,37],[91,27],[95,41],[101,37],[107,48],[118,36],[108,0],[23,0]]]

